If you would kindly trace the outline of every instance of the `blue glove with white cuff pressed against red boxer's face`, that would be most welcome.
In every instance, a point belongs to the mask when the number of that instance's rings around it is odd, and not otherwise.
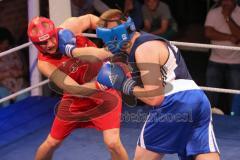
[[[70,30],[62,29],[58,32],[58,48],[62,54],[73,57],[72,50],[76,48],[76,38]]]

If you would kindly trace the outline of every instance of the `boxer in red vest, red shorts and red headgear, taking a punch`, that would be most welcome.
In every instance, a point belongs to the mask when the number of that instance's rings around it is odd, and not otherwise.
[[[38,148],[35,159],[52,159],[54,151],[74,129],[92,127],[103,132],[112,160],[127,160],[119,132],[120,95],[94,80],[102,60],[111,53],[97,48],[79,35],[81,32],[69,19],[57,28],[44,17],[29,23],[28,36],[39,50],[39,70],[64,91],[51,132]],[[72,58],[75,55],[80,58]]]

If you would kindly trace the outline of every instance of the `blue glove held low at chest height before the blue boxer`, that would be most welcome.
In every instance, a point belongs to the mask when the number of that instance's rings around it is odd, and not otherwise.
[[[133,94],[133,88],[136,85],[136,82],[128,78],[118,64],[110,62],[103,64],[97,75],[97,81],[106,87],[120,90],[127,95]]]

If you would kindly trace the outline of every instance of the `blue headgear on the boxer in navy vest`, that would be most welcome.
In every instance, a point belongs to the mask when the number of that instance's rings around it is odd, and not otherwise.
[[[105,20],[116,21],[116,20]],[[105,45],[113,54],[120,53],[128,47],[129,41],[132,39],[136,27],[130,17],[125,23],[113,28],[97,27],[97,37],[102,39]]]

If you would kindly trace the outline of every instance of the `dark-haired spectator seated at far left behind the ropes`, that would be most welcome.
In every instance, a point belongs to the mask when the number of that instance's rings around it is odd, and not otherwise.
[[[14,38],[7,28],[0,27],[0,52],[14,46]],[[23,76],[23,64],[17,53],[0,57],[0,98],[21,90],[25,86]],[[23,99],[26,95],[16,97],[15,101]],[[6,101],[2,106],[9,104]]]

